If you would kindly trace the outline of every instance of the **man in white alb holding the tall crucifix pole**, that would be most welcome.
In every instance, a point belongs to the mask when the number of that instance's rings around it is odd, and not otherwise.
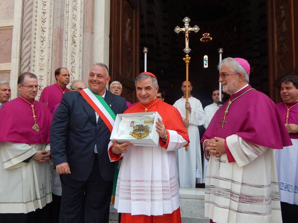
[[[188,102],[186,102],[186,81],[184,81],[181,86],[183,97],[173,104],[180,112],[185,128],[188,128],[190,139],[188,150],[185,150],[185,148],[178,150],[179,183],[181,187],[195,187],[196,177],[199,178],[198,183],[203,182],[198,125],[205,123],[205,116],[201,102],[191,96],[192,89],[193,86],[188,81]],[[188,120],[186,120],[185,109],[188,110]]]

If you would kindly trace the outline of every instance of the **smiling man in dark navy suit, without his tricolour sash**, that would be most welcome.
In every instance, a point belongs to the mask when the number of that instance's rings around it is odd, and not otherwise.
[[[117,115],[127,109],[126,101],[105,89],[109,80],[105,64],[91,67],[89,92],[103,97]],[[114,177],[108,157],[111,132],[81,93],[63,94],[52,120],[51,157],[62,186],[59,222],[108,222]]]

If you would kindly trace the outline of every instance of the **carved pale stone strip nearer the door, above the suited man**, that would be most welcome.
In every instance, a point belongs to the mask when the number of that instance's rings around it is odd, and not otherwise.
[[[65,1],[63,67],[69,70],[70,83],[81,79],[82,73],[83,2],[84,0]]]

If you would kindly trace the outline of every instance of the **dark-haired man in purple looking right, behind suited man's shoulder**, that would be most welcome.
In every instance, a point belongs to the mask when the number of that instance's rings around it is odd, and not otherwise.
[[[45,87],[40,95],[39,101],[44,103],[50,111],[53,107],[60,103],[62,95],[69,92],[66,87],[69,84],[69,72],[64,67],[59,67],[55,70],[55,78],[57,82]]]

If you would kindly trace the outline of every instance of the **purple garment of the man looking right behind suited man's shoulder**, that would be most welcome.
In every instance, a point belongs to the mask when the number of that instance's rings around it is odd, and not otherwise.
[[[69,89],[62,88],[57,83],[52,84],[42,90],[39,101],[44,103],[49,111],[52,111],[53,107],[60,103],[63,92],[69,92]]]

